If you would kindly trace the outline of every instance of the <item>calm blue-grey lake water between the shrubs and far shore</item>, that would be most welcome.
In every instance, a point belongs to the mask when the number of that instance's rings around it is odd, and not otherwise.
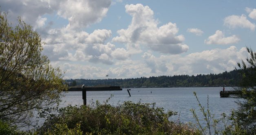
[[[129,96],[127,89],[122,91],[87,91],[87,104],[92,101],[104,102],[114,95],[108,102],[110,105],[118,105],[124,101],[132,102],[155,102],[157,107],[163,107],[165,111],[177,111],[180,114],[180,121],[194,122],[193,115],[190,109],[195,109],[197,114],[200,113],[198,102],[193,94],[196,92],[201,104],[207,107],[207,95],[209,95],[209,108],[215,118],[220,118],[221,113],[231,113],[231,109],[236,109],[237,105],[235,98],[220,98],[219,91],[222,87],[193,87],[193,88],[133,88]],[[232,90],[231,87],[226,87],[225,90]],[[152,93],[151,93],[152,92]],[[61,106],[67,105],[83,105],[82,91],[70,91],[62,98]],[[171,120],[178,120],[178,116],[174,116]],[[205,123],[205,122],[202,122]]]

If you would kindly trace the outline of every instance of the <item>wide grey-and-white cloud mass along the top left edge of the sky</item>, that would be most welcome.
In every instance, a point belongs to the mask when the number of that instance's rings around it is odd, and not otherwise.
[[[38,17],[57,12],[67,19],[69,27],[83,28],[106,16],[111,0],[2,0],[2,11],[8,12],[15,22],[18,16],[32,26],[37,26]]]

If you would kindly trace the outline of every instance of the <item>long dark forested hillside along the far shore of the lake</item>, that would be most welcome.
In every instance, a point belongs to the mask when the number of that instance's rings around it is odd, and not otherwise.
[[[68,85],[113,85],[122,88],[132,87],[218,87],[218,86],[237,86],[241,80],[239,70],[223,72],[220,74],[198,74],[196,76],[174,75],[141,77],[127,79],[67,79]]]

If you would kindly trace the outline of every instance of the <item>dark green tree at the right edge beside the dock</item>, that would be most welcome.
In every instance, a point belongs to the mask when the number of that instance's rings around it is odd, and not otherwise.
[[[237,127],[241,127],[248,134],[256,134],[256,52],[247,47],[249,58],[246,61],[238,63],[241,68],[242,79],[240,86],[236,90],[242,90],[238,98],[238,110],[233,112],[232,118]]]

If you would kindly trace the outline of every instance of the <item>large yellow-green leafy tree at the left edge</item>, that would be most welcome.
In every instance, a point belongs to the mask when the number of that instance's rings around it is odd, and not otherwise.
[[[62,72],[42,55],[40,35],[20,17],[14,28],[0,12],[0,119],[27,122],[34,109],[60,102]]]

